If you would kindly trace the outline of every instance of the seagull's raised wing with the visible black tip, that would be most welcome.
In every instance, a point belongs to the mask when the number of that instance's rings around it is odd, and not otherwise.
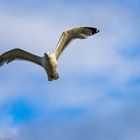
[[[73,39],[85,39],[88,36],[94,35],[98,32],[99,30],[94,27],[76,27],[64,31],[54,51],[56,59],[59,58],[60,54]]]

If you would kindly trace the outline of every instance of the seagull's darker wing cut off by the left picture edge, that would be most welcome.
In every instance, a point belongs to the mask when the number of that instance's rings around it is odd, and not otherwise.
[[[12,49],[0,55],[0,66],[13,60],[27,60],[42,66],[41,57],[26,52],[22,49]]]

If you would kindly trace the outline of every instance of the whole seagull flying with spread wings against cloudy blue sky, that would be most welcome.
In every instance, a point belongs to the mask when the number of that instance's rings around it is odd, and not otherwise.
[[[57,72],[58,59],[68,44],[74,39],[85,39],[98,32],[99,30],[95,27],[74,27],[65,30],[54,52],[45,52],[44,56],[40,57],[20,48],[15,48],[0,55],[0,66],[13,60],[27,60],[42,66],[48,75],[48,81],[57,80],[59,78]]]

